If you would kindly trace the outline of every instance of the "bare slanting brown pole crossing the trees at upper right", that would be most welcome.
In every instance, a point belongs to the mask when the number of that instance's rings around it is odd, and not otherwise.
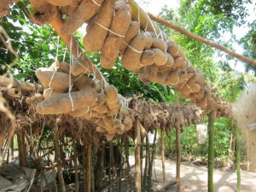
[[[172,21],[165,20],[163,18],[160,18],[159,16],[155,16],[155,15],[152,15],[152,14],[149,14],[149,13],[148,13],[148,15],[152,20],[154,20],[154,21],[156,21],[156,22],[158,22],[158,23],[160,23],[164,26],[170,27],[173,30],[182,33],[183,35],[188,36],[189,38],[193,38],[196,41],[201,42],[202,44],[207,44],[211,47],[214,47],[215,49],[219,49],[219,50],[225,52],[228,55],[232,55],[232,56],[236,57],[237,59],[239,59],[241,61],[245,61],[249,64],[254,65],[254,66],[256,65],[255,60],[247,58],[246,56],[240,55],[240,54],[236,53],[234,50],[228,49],[228,48],[226,48],[226,47],[224,47],[220,44],[216,44],[216,43],[214,43],[213,41],[211,41],[207,38],[202,38],[199,35],[195,35],[193,32],[189,32],[186,29],[184,29],[183,27],[177,26],[177,24],[172,22]]]

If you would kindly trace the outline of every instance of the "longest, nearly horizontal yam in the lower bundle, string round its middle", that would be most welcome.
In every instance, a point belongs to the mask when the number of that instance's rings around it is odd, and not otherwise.
[[[97,93],[95,90],[81,90],[69,94],[61,94],[38,102],[36,110],[40,114],[60,114],[68,113],[79,108],[86,108],[95,105],[97,102]],[[72,108],[73,101],[73,108]]]

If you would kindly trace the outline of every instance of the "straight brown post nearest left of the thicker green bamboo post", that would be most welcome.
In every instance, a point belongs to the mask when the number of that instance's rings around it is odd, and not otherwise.
[[[177,192],[180,192],[180,164],[181,164],[181,142],[180,142],[180,125],[176,125],[176,141],[177,141],[177,159],[176,159],[176,181]]]

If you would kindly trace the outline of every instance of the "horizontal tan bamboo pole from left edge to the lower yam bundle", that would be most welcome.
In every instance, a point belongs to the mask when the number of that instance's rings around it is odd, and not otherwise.
[[[43,92],[44,91],[44,87],[42,84],[32,84],[26,81],[5,78],[3,76],[0,76],[0,85],[8,88],[11,88],[11,87],[20,88],[20,90],[25,92],[31,92],[31,91]]]

